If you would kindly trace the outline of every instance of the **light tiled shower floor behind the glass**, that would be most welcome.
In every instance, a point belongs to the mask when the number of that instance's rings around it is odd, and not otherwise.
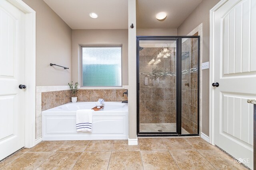
[[[176,123],[140,123],[140,132],[176,132]],[[189,134],[181,128],[182,134]]]

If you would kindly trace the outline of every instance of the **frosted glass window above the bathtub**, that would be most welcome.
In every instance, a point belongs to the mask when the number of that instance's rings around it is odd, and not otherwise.
[[[82,86],[122,86],[121,47],[82,47]]]

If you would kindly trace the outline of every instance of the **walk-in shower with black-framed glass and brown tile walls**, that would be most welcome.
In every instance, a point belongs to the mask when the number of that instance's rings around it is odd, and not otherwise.
[[[199,134],[199,36],[137,37],[137,133]]]

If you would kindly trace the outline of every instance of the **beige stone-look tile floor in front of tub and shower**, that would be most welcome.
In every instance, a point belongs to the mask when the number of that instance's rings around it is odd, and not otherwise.
[[[0,162],[1,170],[215,170],[246,169],[200,137],[42,141]]]

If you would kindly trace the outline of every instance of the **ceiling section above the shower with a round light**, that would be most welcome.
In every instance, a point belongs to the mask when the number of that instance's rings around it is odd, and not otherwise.
[[[137,0],[137,28],[178,28],[202,0]],[[156,14],[166,12],[164,21]]]

